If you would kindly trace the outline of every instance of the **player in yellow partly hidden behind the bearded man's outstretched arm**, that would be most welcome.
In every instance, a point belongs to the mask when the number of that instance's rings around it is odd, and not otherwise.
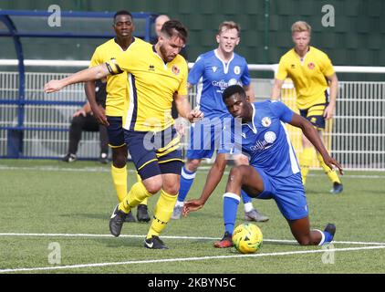
[[[113,18],[115,37],[97,47],[89,67],[98,66],[118,57],[126,51],[134,41],[132,33],[135,29],[132,15],[126,10],[118,11]],[[107,126],[109,133],[109,146],[112,149],[111,175],[118,200],[121,202],[127,195],[127,145],[124,141],[122,117],[127,110],[127,73],[107,77],[106,110],[100,108],[95,99],[95,82],[88,81],[85,84],[86,94],[99,123]],[[138,205],[137,218],[140,222],[149,222],[147,211],[147,199]],[[127,222],[134,222],[135,218],[130,213],[126,217]]]

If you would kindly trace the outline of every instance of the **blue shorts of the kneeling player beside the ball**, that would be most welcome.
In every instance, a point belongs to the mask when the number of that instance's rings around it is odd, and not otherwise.
[[[257,199],[274,199],[279,211],[287,220],[297,220],[307,217],[307,197],[302,184],[301,172],[289,177],[271,177],[255,167],[262,176],[265,190],[259,193]]]

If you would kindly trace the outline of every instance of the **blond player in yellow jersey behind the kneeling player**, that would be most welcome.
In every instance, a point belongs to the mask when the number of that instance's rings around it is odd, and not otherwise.
[[[297,21],[291,27],[295,47],[281,57],[272,90],[272,99],[279,99],[286,77],[293,80],[297,92],[297,108],[301,116],[307,118],[322,135],[325,120],[333,117],[338,93],[338,78],[328,55],[316,47],[310,46],[311,26],[304,21]],[[328,94],[328,88],[330,93]],[[306,183],[310,162],[312,161],[312,144],[302,136],[303,151],[299,155],[302,183]],[[317,159],[333,183],[330,193],[341,193],[342,183],[337,172],[317,153]]]

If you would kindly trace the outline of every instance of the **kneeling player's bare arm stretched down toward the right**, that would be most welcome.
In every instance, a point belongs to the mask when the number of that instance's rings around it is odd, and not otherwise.
[[[313,127],[313,125],[305,118],[301,117],[297,113],[294,113],[293,119],[290,124],[297,128],[301,128],[304,135],[307,137],[308,141],[310,141],[314,147],[316,147],[317,151],[322,155],[324,162],[328,165],[330,169],[338,168],[339,173],[341,175],[344,174],[342,166],[336,161],[334,158],[330,157],[327,149],[324,146],[324,143],[319,138],[317,130]]]

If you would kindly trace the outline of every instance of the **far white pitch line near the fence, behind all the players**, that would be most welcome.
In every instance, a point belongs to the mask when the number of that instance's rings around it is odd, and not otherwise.
[[[199,168],[198,173],[207,173],[210,170],[211,166],[202,166]],[[40,171],[40,172],[110,172],[109,168],[103,167],[85,167],[85,168],[63,168],[55,166],[9,166],[9,165],[0,165],[0,171]],[[134,170],[128,170],[129,172],[136,172]],[[225,175],[229,174],[228,171],[224,172]],[[308,174],[312,177],[323,177],[324,174]],[[385,175],[365,175],[365,174],[345,174],[345,178],[354,178],[354,179],[385,179]]]

